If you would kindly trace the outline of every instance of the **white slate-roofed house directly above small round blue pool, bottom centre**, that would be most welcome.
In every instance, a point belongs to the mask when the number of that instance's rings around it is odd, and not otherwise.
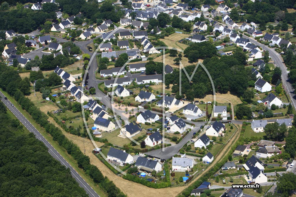
[[[143,172],[149,172],[152,171],[160,172],[161,171],[161,164],[157,160],[153,160],[146,157],[138,157],[135,165],[138,167],[139,170]]]

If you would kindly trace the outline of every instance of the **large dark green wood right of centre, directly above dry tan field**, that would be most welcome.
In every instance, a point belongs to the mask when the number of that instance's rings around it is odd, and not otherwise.
[[[195,53],[198,52],[195,51]],[[216,92],[227,93],[231,91],[238,96],[244,94],[244,91],[250,86],[248,82],[254,82],[254,76],[244,69],[245,61],[246,56],[239,49],[237,49],[232,56],[223,56],[220,59],[214,56],[212,58],[206,58],[203,61],[204,66],[213,80]],[[192,75],[195,67],[196,65],[185,67],[189,76]],[[210,78],[202,66],[198,66],[191,82],[189,82],[183,70],[181,79],[181,97],[186,95],[186,99],[193,100],[194,98],[203,98],[205,95],[213,93]],[[173,84],[172,92],[176,93],[176,97],[180,99],[179,71],[173,71],[172,74],[165,75],[165,85],[168,87],[170,84]],[[251,85],[254,85],[254,83],[251,83]]]

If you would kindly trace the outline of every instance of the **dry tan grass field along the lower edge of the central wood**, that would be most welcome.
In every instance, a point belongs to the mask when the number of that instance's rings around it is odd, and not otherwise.
[[[206,95],[205,98],[202,99],[195,99],[195,100],[203,100],[204,102],[208,101],[213,101],[213,95]],[[239,99],[239,97],[232,95],[230,93],[227,94],[221,94],[221,93],[216,93],[216,102],[219,104],[228,104],[231,102],[233,105],[237,105],[242,103],[242,101]]]

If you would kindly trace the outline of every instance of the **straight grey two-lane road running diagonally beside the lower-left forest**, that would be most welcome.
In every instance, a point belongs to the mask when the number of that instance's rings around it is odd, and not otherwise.
[[[73,178],[75,178],[75,180],[77,181],[77,183],[80,185],[80,187],[82,187],[86,193],[90,196],[90,197],[100,197],[92,188],[91,186],[89,186],[89,184],[86,183],[86,181],[81,178],[81,176],[78,174],[78,172],[76,172],[74,170],[74,168],[59,154],[59,152],[57,152],[54,147],[52,147],[52,145],[41,135],[41,133],[39,133],[39,131],[25,118],[25,116],[22,115],[22,113],[20,113],[19,110],[17,110],[17,108],[12,107],[12,103],[9,100],[5,100],[4,99],[4,95],[2,92],[0,92],[0,96],[2,97],[2,101],[4,102],[4,104],[7,106],[7,108],[15,115],[15,117],[17,117],[17,119],[19,119],[19,121],[31,132],[34,133],[36,138],[40,141],[42,141],[45,146],[48,148],[48,152],[49,154],[52,155],[52,157],[54,157],[55,159],[57,159],[59,162],[61,162],[62,165],[64,165],[65,167],[69,168],[71,171],[71,175]]]

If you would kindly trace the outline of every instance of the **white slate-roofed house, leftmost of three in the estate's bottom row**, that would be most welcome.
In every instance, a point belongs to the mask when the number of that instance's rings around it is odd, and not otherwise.
[[[110,147],[110,150],[107,153],[107,159],[109,159],[109,161],[118,162],[120,166],[133,163],[133,156],[126,153],[125,150],[119,150],[113,147]]]

